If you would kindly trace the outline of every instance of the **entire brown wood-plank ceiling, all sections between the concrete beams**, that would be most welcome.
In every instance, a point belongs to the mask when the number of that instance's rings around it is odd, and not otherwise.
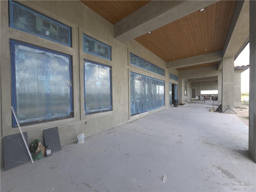
[[[150,1],[82,2],[115,24]],[[203,12],[194,12],[135,40],[166,62],[220,51],[223,50],[235,7],[236,0],[219,1]],[[217,64],[214,62],[207,66]],[[206,65],[194,68],[203,66]]]

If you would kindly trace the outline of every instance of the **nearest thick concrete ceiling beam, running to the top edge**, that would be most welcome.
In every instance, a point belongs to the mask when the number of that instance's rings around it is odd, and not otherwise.
[[[215,2],[218,1],[151,1],[117,22],[114,25],[114,38],[124,43]]]

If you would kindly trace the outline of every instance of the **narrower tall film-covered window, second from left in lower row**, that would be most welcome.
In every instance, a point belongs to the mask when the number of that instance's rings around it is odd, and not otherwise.
[[[84,114],[111,110],[110,66],[84,60]]]

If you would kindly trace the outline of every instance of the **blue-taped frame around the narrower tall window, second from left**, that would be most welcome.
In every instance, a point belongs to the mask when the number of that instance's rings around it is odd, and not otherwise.
[[[85,62],[90,62],[91,64],[94,64],[94,65],[98,65],[98,66],[103,66],[103,67],[107,67],[109,68],[109,83],[110,83],[110,109],[108,110],[100,110],[100,111],[95,111],[95,112],[86,112],[86,76],[85,76]],[[84,73],[84,76],[83,76],[83,81],[84,81],[84,116],[87,116],[87,115],[91,115],[91,114],[100,114],[100,113],[103,113],[103,112],[110,112],[113,110],[113,104],[112,104],[112,66],[108,66],[106,64],[102,64],[102,63],[98,63],[98,62],[94,62],[94,61],[91,61],[91,60],[87,60],[87,59],[84,59],[83,60],[83,73]]]

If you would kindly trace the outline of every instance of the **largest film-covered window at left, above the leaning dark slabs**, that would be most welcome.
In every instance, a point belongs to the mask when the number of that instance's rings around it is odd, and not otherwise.
[[[12,106],[21,125],[73,117],[71,56],[10,40]],[[17,126],[14,116],[13,127]]]

